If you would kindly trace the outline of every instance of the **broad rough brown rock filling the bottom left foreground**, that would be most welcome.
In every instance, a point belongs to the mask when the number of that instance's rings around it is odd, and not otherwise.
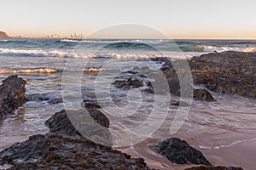
[[[55,133],[33,135],[0,152],[0,165],[10,169],[145,169],[142,158],[95,144],[88,139]]]

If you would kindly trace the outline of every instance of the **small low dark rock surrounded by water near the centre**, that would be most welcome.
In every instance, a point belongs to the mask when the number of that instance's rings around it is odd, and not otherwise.
[[[125,80],[117,80],[113,82],[115,88],[140,88],[143,87],[141,79],[132,79],[131,77]]]

